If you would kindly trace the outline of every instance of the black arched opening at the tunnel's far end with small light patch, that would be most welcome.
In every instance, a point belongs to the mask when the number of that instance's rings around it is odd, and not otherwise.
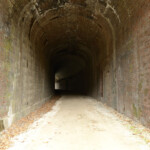
[[[72,48],[59,51],[53,57],[55,94],[88,94],[91,64],[87,56]]]

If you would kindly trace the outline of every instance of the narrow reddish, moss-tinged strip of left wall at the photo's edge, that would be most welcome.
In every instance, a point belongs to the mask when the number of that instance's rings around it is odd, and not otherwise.
[[[4,128],[3,117],[8,113],[10,103],[10,90],[11,79],[10,73],[10,48],[12,47],[10,41],[10,28],[7,23],[8,8],[7,4],[3,2],[0,5],[0,131]]]

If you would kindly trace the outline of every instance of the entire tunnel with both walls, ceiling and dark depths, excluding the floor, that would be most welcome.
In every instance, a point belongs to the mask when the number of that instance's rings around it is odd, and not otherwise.
[[[82,94],[150,127],[149,0],[1,0],[0,130],[53,95]]]

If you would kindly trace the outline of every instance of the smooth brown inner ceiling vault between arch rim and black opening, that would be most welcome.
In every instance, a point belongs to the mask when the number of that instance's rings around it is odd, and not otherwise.
[[[84,45],[92,50],[95,57],[105,52],[108,36],[111,36],[111,32],[106,34],[108,25],[103,29],[105,21],[103,18],[101,21],[95,22],[89,11],[78,6],[49,10],[34,22],[31,40],[37,45],[43,39],[45,50],[55,49],[58,45],[59,49]]]

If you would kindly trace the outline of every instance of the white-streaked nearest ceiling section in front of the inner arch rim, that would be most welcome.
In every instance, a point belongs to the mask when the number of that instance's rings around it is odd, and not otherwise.
[[[35,20],[45,16],[48,11],[53,11],[53,15],[47,18],[47,21],[52,21],[66,15],[66,10],[72,14],[74,9],[76,14],[80,12],[81,16],[85,18],[94,19],[95,22],[98,20],[101,27],[105,29],[107,23],[114,26],[123,25],[128,18],[138,11],[142,4],[147,2],[149,0],[138,1],[138,4],[136,4],[136,0],[10,0],[12,11],[7,13],[11,13],[11,18],[14,17],[16,22],[19,21],[19,23],[23,21],[22,19],[29,18],[28,24],[31,28]],[[65,11],[63,12],[61,9]],[[81,13],[81,10],[84,11]],[[18,17],[18,14],[20,17]],[[104,23],[103,20],[106,20],[107,23]]]

